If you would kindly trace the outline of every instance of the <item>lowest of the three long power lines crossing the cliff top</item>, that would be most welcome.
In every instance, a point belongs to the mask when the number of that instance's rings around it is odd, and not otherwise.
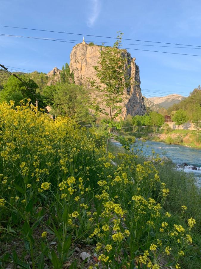
[[[20,37],[20,38],[31,38],[31,39],[39,39],[39,40],[47,40],[47,41],[54,41],[54,42],[65,42],[65,43],[73,43],[77,44],[76,42],[71,42],[71,41],[62,41],[62,40],[54,40],[54,39],[47,39],[47,38],[40,38],[40,37],[31,37],[31,36],[15,36],[15,35],[8,35],[8,34],[0,34],[1,36],[13,36],[13,37]],[[88,45],[88,44],[82,44],[82,45]],[[96,45],[94,46],[98,47],[111,47],[111,46],[105,46],[105,45]],[[167,51],[150,51],[150,50],[142,50],[142,49],[136,49],[136,48],[123,48],[121,49],[126,49],[126,50],[135,50],[135,51],[149,51],[149,52],[159,52],[159,53],[166,53],[166,54],[177,54],[177,55],[186,55],[186,56],[197,56],[201,57],[201,55],[195,55],[195,54],[184,54],[184,53],[176,53],[176,52],[167,52]]]

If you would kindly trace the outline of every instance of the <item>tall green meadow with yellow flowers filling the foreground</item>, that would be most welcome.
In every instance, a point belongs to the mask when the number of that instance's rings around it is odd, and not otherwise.
[[[145,159],[138,143],[131,151],[127,143],[110,144],[106,153],[106,138],[104,128],[0,104],[1,268],[197,264],[200,193],[193,179],[154,153]],[[77,247],[91,254],[89,263]]]

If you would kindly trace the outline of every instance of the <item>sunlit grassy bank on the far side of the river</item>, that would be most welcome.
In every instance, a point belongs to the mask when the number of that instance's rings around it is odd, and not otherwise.
[[[197,139],[196,131],[190,130],[173,130],[168,133],[165,133],[164,130],[161,132],[144,130],[144,132],[127,132],[124,133],[124,136],[135,136],[137,138],[144,138],[146,140],[165,142],[170,145],[182,145],[193,148],[201,148],[201,134],[199,134],[199,140]]]

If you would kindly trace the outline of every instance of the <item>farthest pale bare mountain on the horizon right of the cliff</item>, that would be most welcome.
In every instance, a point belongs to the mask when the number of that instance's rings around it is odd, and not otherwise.
[[[182,100],[185,100],[186,97],[180,94],[169,94],[164,97],[151,97],[148,98],[149,101],[151,101],[154,104],[160,105],[163,108],[169,108],[174,103],[179,103]]]

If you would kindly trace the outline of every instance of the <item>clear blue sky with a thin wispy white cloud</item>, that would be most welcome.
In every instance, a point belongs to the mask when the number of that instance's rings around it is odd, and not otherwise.
[[[0,25],[38,28],[71,33],[179,43],[201,46],[201,1],[199,0],[0,0]],[[0,27],[1,34],[74,39],[82,36]],[[86,41],[111,42],[107,38],[86,37]],[[122,43],[149,44],[137,41]],[[164,45],[164,44],[158,44]],[[3,65],[48,72],[69,63],[74,44],[0,36]],[[122,47],[201,55],[200,49]],[[188,96],[201,84],[201,57],[128,50],[140,67],[142,93],[146,97],[171,93]],[[147,89],[147,90],[144,90]]]

